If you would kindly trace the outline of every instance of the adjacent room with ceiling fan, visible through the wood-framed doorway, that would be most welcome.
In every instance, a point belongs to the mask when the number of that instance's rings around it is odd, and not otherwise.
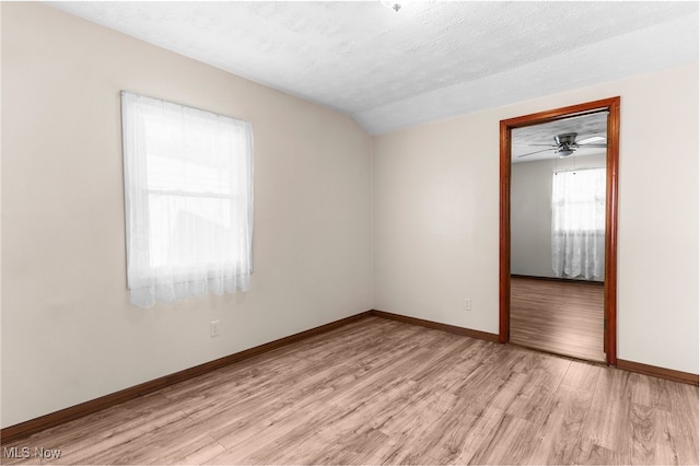
[[[607,360],[609,139],[605,110],[512,132],[511,342]]]

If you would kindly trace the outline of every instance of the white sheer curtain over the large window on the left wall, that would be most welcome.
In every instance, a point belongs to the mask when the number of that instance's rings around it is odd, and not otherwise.
[[[121,113],[131,302],[247,290],[250,125],[127,92]]]

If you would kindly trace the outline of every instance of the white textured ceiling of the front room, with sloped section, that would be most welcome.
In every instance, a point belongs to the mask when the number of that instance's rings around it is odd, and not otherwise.
[[[50,2],[371,133],[698,60],[698,2]]]

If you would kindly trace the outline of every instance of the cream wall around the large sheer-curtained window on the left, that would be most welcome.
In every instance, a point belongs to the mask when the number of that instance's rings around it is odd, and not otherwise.
[[[354,121],[44,4],[0,8],[2,427],[372,308]],[[129,304],[121,89],[252,121],[249,292]]]

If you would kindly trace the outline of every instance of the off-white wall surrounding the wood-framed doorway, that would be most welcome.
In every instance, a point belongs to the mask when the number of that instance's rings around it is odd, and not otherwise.
[[[697,374],[697,62],[376,137],[375,308],[498,334],[499,121],[616,95],[618,358]]]

